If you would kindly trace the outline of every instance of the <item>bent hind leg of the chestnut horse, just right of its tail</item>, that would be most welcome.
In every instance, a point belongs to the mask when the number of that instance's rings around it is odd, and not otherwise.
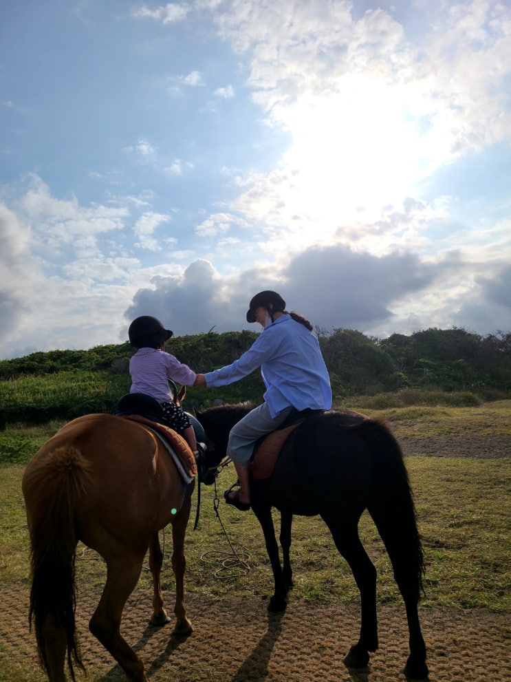
[[[89,630],[116,659],[130,682],[148,682],[144,663],[120,635],[122,610],[138,582],[143,560],[143,555],[107,560],[107,583],[89,622]]]

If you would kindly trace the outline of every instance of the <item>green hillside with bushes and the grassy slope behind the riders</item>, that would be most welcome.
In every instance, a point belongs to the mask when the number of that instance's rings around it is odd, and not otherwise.
[[[318,332],[337,406],[468,407],[511,395],[509,333],[481,337],[457,328],[429,329],[409,337],[372,339],[354,330]],[[211,331],[173,338],[167,350],[197,372],[206,372],[237,359],[256,337],[248,331]],[[0,429],[111,412],[129,391],[131,354],[129,343],[122,343],[0,361]],[[215,399],[258,403],[263,392],[261,376],[254,372],[226,387],[189,388],[184,406],[211,405]]]

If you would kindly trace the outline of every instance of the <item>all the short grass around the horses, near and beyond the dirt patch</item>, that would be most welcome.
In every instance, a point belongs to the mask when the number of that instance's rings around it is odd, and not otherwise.
[[[511,401],[476,407],[387,407],[371,409],[354,405],[361,412],[385,418],[398,438],[446,438],[507,436],[511,434]],[[4,593],[30,584],[29,543],[21,477],[25,463],[42,443],[61,426],[52,422],[40,427],[17,425],[0,432],[0,582]],[[426,594],[423,608],[491,610],[511,612],[509,534],[511,460],[408,457],[406,466],[415,493],[417,517],[426,558]],[[235,478],[232,467],[221,472],[218,491]],[[199,527],[186,537],[187,594],[204,599],[236,595],[240,600],[272,593],[272,574],[263,537],[252,513],[227,508],[222,500],[220,519],[215,515],[214,487],[202,488]],[[197,498],[194,494],[195,504]],[[195,509],[192,510],[192,518]],[[274,513],[278,529],[279,516]],[[222,525],[225,528],[225,533]],[[367,513],[360,522],[362,542],[378,571],[380,604],[400,606],[391,565],[373,522]],[[358,602],[358,590],[346,562],[319,518],[295,518],[292,564],[292,599],[311,604]],[[164,548],[162,587],[166,600],[173,594],[171,533],[160,533]],[[248,570],[232,554],[246,562]],[[77,548],[76,572],[80,587],[102,587],[105,564],[83,544]],[[138,589],[151,586],[146,559]],[[13,625],[14,626],[14,625]],[[24,624],[18,627],[25,628]],[[43,680],[41,672],[23,668],[23,658],[11,659],[0,641],[0,682]]]

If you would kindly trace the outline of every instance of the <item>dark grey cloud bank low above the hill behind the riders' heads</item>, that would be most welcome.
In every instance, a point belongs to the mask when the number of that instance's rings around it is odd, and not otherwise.
[[[391,319],[393,303],[425,292],[438,275],[437,266],[411,253],[375,257],[346,246],[309,249],[281,270],[250,268],[230,276],[197,260],[182,276],[153,277],[153,288],[135,294],[126,316],[160,315],[176,327],[184,316],[184,333],[213,325],[227,331],[246,326],[248,301],[258,290],[270,288],[281,292],[288,310],[303,312],[323,328],[367,329]]]

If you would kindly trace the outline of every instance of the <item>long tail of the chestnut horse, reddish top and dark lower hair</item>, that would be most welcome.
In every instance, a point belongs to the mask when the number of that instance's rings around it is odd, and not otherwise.
[[[76,637],[76,500],[87,489],[89,463],[76,447],[58,447],[34,458],[23,476],[30,529],[30,629],[39,661],[51,679],[49,650],[65,641],[69,673],[85,671]],[[56,636],[58,634],[58,637]]]

